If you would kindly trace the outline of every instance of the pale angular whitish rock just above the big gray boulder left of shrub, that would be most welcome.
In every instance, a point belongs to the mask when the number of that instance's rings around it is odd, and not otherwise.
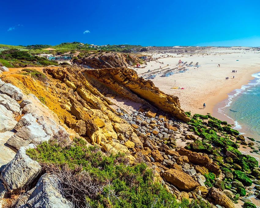
[[[47,135],[43,127],[35,123],[30,126],[22,127],[17,133],[7,140],[7,144],[19,149],[30,143],[41,144],[43,141],[48,141],[50,136]]]

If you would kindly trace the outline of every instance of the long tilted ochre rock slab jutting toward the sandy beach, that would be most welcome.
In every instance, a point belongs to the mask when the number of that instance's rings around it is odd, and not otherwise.
[[[150,104],[156,106],[169,113],[170,115],[187,122],[189,118],[180,108],[178,97],[163,93],[150,80],[144,80],[138,77],[136,72],[128,68],[107,68],[98,70],[85,70],[83,75],[92,79],[92,83],[96,82],[105,84],[108,88],[120,94],[127,99],[133,99],[133,95],[137,95]]]

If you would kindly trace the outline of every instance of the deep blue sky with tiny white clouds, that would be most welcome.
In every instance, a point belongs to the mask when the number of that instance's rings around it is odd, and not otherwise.
[[[0,43],[260,46],[260,1],[1,0]]]

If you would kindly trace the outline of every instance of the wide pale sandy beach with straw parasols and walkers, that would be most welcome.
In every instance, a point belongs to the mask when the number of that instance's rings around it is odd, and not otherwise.
[[[215,106],[227,99],[228,93],[254,79],[251,76],[253,73],[260,71],[260,52],[246,47],[213,47],[203,53],[200,51],[192,55],[173,53],[150,55],[157,60],[147,62],[146,68],[135,68],[139,76],[148,70],[160,67],[176,68],[179,66],[179,60],[187,64],[199,62],[199,68],[186,67],[188,71],[185,73],[175,73],[169,77],[157,75],[152,81],[163,92],[179,97],[181,107],[185,111],[211,113],[216,117],[221,115],[217,114]],[[232,73],[232,70],[237,70],[237,73]],[[229,79],[226,80],[226,77]],[[173,87],[184,89],[171,89]],[[205,109],[203,103],[206,103]]]

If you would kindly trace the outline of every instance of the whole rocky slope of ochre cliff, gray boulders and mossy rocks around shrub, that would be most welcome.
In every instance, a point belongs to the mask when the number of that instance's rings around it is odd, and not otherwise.
[[[62,191],[61,176],[46,172],[37,158],[26,153],[57,137],[81,137],[103,152],[122,152],[130,164],[144,161],[153,170],[154,181],[179,201],[202,198],[233,208],[233,202],[259,194],[258,163],[237,150],[239,143],[248,145],[242,135],[210,115],[189,119],[176,97],[162,93],[134,71],[37,70],[46,76],[45,81],[19,69],[3,72],[0,79],[4,206],[8,200],[13,207],[23,208],[76,206]],[[139,108],[124,110],[129,100]],[[249,187],[252,183],[256,188]]]

